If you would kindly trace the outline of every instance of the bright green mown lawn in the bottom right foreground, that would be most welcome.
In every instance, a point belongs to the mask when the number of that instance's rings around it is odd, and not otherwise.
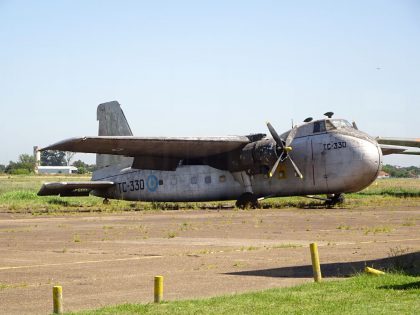
[[[68,314],[415,314],[420,309],[419,296],[420,277],[358,275],[254,293]]]

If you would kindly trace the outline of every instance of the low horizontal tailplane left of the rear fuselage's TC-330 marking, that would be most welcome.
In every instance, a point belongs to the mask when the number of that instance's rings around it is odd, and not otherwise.
[[[107,189],[114,185],[108,181],[44,183],[38,196],[89,196],[92,190]]]

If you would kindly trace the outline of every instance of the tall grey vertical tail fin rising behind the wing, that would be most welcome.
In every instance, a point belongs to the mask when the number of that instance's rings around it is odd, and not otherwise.
[[[98,136],[132,136],[131,128],[128,125],[124,112],[117,101],[99,104],[97,109],[96,119],[99,121]],[[123,166],[130,166],[133,162],[132,158],[97,154],[96,165],[98,168],[103,168],[113,164],[123,164]]]

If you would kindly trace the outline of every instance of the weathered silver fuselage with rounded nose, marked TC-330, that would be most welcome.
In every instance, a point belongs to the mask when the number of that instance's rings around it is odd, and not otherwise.
[[[375,139],[351,128],[318,133],[305,133],[301,128],[290,156],[303,179],[296,177],[287,161],[280,163],[273,177],[209,165],[181,164],[175,171],[112,165],[94,172],[92,180],[116,185],[92,194],[132,201],[210,201],[237,199],[244,191],[258,198],[349,193],[369,186],[382,165],[381,148]]]

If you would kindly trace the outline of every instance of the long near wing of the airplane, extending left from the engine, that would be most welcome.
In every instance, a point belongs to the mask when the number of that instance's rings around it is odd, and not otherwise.
[[[226,153],[244,147],[250,140],[245,136],[227,137],[153,137],[97,136],[71,138],[57,142],[44,150],[124,156],[153,156],[194,159]]]

